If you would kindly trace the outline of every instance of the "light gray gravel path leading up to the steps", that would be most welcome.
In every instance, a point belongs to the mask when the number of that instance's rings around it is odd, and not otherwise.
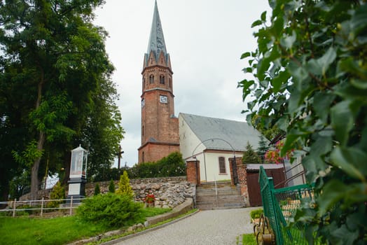
[[[219,209],[200,211],[158,230],[137,235],[118,244],[236,244],[236,237],[252,233],[249,212],[246,209]]]

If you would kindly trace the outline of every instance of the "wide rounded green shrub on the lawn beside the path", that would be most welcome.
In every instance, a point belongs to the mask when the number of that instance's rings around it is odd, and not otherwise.
[[[120,228],[144,222],[141,215],[143,204],[133,202],[128,195],[96,195],[78,207],[76,215],[82,221],[100,223],[108,228]]]

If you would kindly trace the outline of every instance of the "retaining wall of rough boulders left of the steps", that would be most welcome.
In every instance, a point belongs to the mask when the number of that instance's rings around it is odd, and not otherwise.
[[[130,185],[135,193],[137,202],[144,202],[148,194],[155,196],[155,207],[174,208],[186,200],[186,197],[195,199],[195,185],[186,181],[185,177],[167,177],[151,179],[131,179]],[[118,188],[118,181],[115,181]],[[108,193],[109,181],[99,182],[101,193]],[[95,183],[85,185],[85,195],[91,196],[95,192]]]

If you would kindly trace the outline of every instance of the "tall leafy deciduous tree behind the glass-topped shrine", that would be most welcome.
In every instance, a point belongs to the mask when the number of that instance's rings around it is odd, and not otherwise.
[[[109,148],[109,161],[122,139],[120,113],[112,102],[113,66],[104,50],[106,32],[92,25],[92,11],[102,3],[0,3],[1,127],[6,125],[7,137],[18,136],[9,149],[16,161],[7,157],[5,165],[12,168],[17,162],[31,169],[33,198],[45,151],[68,167],[71,148],[84,142],[98,155],[99,146],[112,137],[108,145],[116,146]],[[99,128],[98,123],[104,124]],[[96,134],[102,137],[99,145]]]

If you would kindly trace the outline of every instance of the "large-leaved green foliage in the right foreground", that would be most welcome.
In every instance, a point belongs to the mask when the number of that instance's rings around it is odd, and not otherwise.
[[[367,3],[271,0],[253,27],[239,83],[250,94],[248,122],[286,132],[281,153],[304,155],[316,205],[303,207],[310,244],[365,244],[367,234]],[[295,151],[294,153],[297,153]]]

